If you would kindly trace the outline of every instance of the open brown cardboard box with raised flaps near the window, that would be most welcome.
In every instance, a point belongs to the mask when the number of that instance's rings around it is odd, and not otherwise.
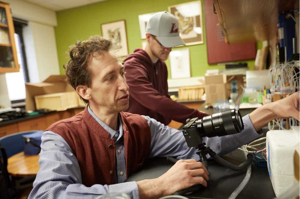
[[[26,110],[34,111],[35,107],[35,96],[63,93],[74,91],[73,87],[65,81],[67,76],[65,75],[50,75],[41,83],[26,83]]]

